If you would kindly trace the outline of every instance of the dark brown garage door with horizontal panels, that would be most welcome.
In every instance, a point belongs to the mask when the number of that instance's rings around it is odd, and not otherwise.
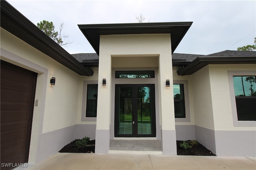
[[[1,169],[28,162],[36,78],[37,73],[1,60]]]

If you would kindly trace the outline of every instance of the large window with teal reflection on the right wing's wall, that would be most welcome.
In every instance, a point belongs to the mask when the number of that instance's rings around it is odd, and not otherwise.
[[[256,121],[256,76],[233,76],[238,121]]]

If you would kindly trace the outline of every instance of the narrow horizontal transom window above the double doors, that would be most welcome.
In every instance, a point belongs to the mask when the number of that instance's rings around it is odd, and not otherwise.
[[[155,78],[154,70],[150,71],[116,71],[116,78]]]

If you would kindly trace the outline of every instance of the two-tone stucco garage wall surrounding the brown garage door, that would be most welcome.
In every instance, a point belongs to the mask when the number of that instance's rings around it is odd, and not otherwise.
[[[34,106],[28,160],[34,164],[74,140],[81,76],[2,28],[1,59],[38,73],[35,100],[39,102]],[[51,77],[56,77],[55,86],[50,86]],[[45,141],[55,145],[48,147]]]

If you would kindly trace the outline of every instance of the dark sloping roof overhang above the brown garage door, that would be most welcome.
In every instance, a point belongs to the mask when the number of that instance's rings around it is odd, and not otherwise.
[[[92,76],[66,50],[42,32],[8,2],[1,0],[1,27],[81,76]]]

